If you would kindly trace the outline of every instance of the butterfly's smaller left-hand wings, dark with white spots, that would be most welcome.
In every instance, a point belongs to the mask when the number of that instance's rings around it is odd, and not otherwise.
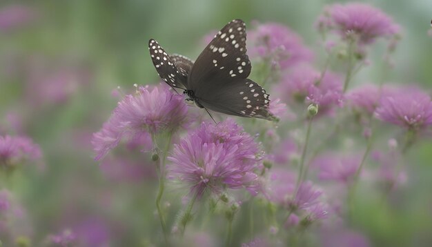
[[[181,55],[170,57],[154,39],[148,41],[148,50],[150,50],[153,65],[161,79],[174,90],[175,88],[188,88],[188,73],[193,65],[190,59]]]

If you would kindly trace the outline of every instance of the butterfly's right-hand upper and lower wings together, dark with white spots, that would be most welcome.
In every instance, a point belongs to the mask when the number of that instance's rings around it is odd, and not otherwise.
[[[220,30],[195,61],[188,85],[205,108],[228,115],[273,119],[266,91],[251,79],[246,25],[236,19]]]

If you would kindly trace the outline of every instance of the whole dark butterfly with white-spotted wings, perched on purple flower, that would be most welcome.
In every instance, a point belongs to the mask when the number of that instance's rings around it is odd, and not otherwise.
[[[230,21],[217,32],[195,62],[182,55],[168,55],[154,39],[148,41],[148,49],[159,77],[174,90],[184,90],[189,97],[186,100],[199,108],[275,119],[266,90],[248,79],[252,66],[246,54],[246,24],[241,19]]]

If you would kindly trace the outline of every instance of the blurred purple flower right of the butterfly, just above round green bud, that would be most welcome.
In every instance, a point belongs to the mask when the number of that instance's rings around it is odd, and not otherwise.
[[[282,77],[276,90],[287,102],[315,103],[320,106],[319,114],[330,112],[343,99],[342,79],[333,72],[321,73],[310,66],[297,66]]]

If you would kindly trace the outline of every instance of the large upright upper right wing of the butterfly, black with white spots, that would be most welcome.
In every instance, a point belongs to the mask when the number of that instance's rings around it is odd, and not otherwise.
[[[251,73],[246,55],[246,24],[236,19],[226,24],[194,63],[188,84],[195,96],[206,98],[239,78]]]

